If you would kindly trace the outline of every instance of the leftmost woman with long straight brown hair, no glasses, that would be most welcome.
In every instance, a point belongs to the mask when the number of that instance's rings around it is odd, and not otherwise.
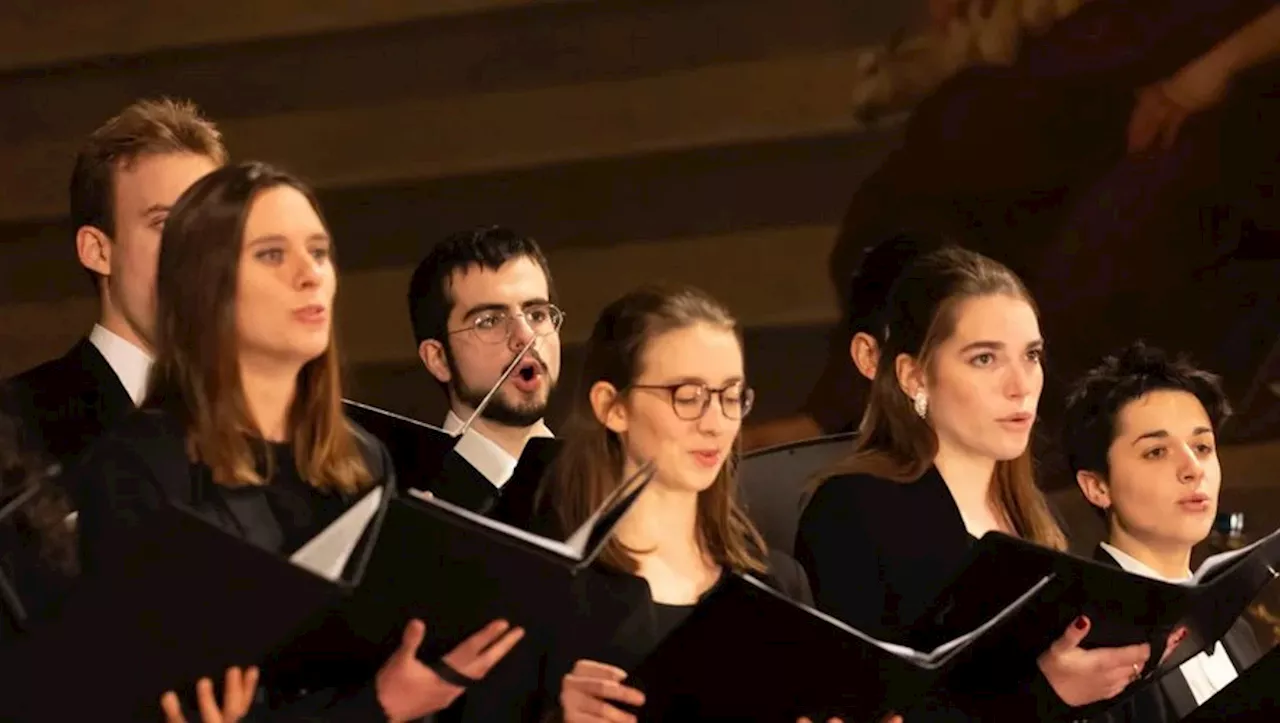
[[[387,450],[343,415],[335,293],[333,241],[297,178],[232,165],[179,198],[161,239],[148,395],[79,465],[86,572],[123,528],[166,504],[279,555],[375,486],[385,504],[394,494]],[[165,472],[161,461],[174,458],[189,475]],[[421,718],[448,706],[463,690],[454,682],[483,677],[522,635],[495,622],[447,655],[438,674],[416,656],[424,624],[407,622],[401,649],[364,688],[269,690],[264,705],[283,719]],[[180,719],[173,696],[165,708]]]

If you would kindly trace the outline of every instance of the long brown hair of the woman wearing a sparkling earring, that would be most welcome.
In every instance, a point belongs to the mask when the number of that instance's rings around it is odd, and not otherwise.
[[[824,471],[817,484],[850,473],[913,482],[933,466],[938,436],[899,386],[896,360],[909,354],[928,369],[938,346],[955,333],[960,303],[997,294],[1023,299],[1036,308],[1016,274],[973,251],[941,248],[919,256],[902,270],[884,305],[888,335],[881,346],[854,453]],[[1066,536],[1036,485],[1030,444],[1015,459],[996,462],[989,495],[1019,536],[1055,549],[1066,548]]]

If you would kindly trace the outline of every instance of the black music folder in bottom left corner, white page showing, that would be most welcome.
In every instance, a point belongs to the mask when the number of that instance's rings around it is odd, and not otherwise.
[[[148,513],[56,618],[0,655],[0,720],[154,719],[164,691],[257,664],[351,592],[381,497],[367,491],[291,558],[182,507]]]

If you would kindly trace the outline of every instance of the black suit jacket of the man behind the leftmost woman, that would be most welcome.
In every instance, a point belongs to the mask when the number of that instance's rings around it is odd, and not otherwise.
[[[133,399],[87,338],[6,381],[28,443],[64,468],[133,408]],[[78,490],[67,490],[78,502]]]

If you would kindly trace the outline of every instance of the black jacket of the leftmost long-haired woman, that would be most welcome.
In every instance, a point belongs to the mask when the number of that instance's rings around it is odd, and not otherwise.
[[[385,505],[396,494],[390,456],[376,438],[355,424],[353,429],[370,472],[384,488],[381,504]],[[212,482],[207,467],[187,458],[180,425],[161,411],[137,409],[127,415],[93,443],[68,473],[74,475],[86,493],[79,518],[86,575],[95,573],[100,555],[109,554],[118,526],[172,503],[195,511],[229,535],[266,549],[280,548],[283,531],[266,500]],[[361,546],[366,544],[370,544],[369,537],[360,543]],[[352,559],[360,557],[357,548]],[[210,671],[210,674],[220,672]],[[301,696],[297,690],[269,692],[276,703],[270,709],[255,708],[253,720],[362,723],[384,719],[372,681]]]

